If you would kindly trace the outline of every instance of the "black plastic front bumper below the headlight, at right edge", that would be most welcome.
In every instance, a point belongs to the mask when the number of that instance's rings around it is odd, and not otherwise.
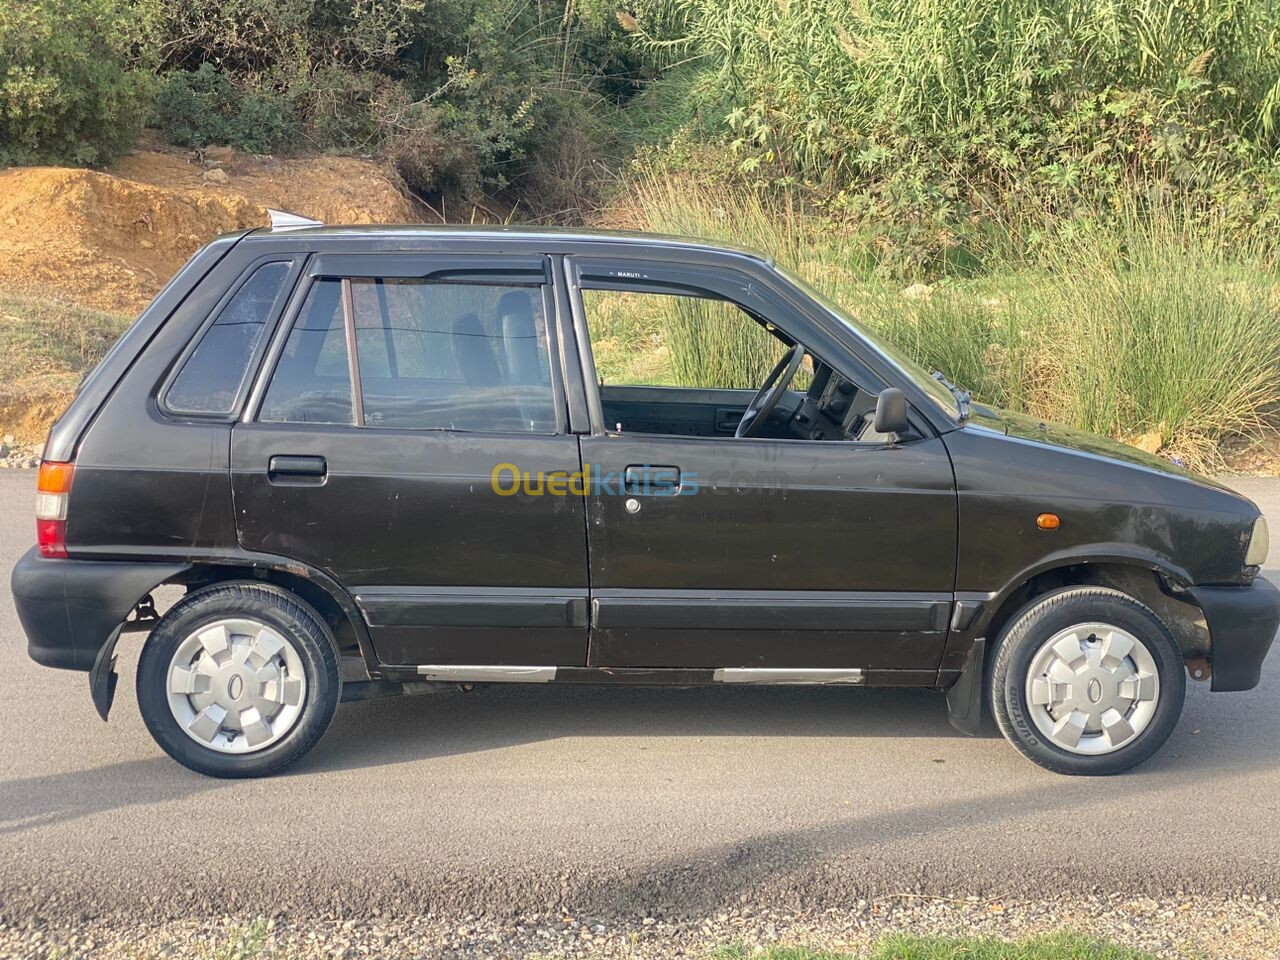
[[[1208,625],[1212,690],[1252,690],[1280,626],[1280,590],[1258,577],[1251,586],[1193,586]]]

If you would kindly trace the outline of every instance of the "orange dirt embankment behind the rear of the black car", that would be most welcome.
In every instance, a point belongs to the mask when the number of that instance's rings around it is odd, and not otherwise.
[[[421,219],[357,157],[151,145],[101,172],[0,170],[0,438],[42,439],[83,369],[187,259],[220,233],[269,225],[268,207],[325,223]]]

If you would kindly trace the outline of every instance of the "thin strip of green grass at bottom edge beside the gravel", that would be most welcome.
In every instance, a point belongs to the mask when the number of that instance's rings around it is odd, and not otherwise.
[[[869,951],[840,954],[804,947],[768,947],[751,951],[724,947],[716,960],[1152,960],[1151,954],[1128,950],[1074,933],[1055,933],[1018,942],[978,937],[886,937]]]

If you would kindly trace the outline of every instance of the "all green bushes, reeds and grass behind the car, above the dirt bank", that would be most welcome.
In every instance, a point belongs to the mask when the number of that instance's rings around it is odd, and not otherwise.
[[[375,154],[454,219],[765,250],[979,399],[1198,466],[1280,399],[1275,4],[0,6],[0,165],[104,163],[143,118]],[[613,378],[772,364],[712,305],[602,310]]]

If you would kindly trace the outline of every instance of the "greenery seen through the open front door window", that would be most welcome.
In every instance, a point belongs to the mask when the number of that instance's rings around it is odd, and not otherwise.
[[[612,387],[758,389],[786,343],[735,303],[582,291],[595,375]]]

